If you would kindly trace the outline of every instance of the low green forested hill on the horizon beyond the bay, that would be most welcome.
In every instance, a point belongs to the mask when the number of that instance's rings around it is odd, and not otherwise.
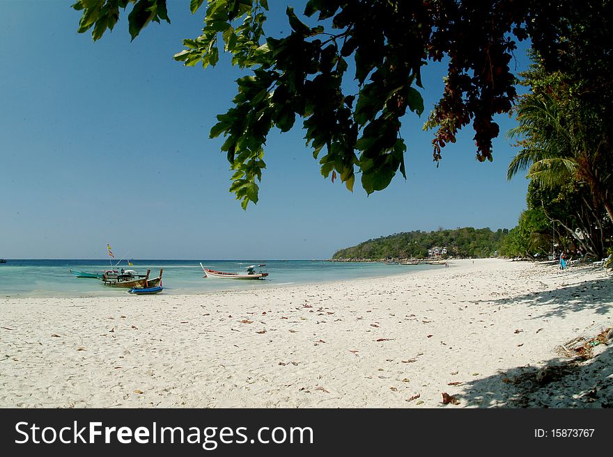
[[[352,248],[338,250],[332,259],[388,259],[410,257],[425,259],[428,249],[439,246],[447,248],[447,256],[453,257],[490,257],[497,255],[507,229],[492,232],[489,227],[473,227],[455,230],[437,230],[436,232],[396,233],[389,236],[370,239]]]

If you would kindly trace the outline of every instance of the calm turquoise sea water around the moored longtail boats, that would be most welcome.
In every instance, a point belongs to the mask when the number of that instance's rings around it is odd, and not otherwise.
[[[251,264],[266,264],[262,269],[269,273],[262,280],[227,280],[203,278],[202,268],[219,271],[245,271]],[[407,273],[410,271],[440,266],[386,265],[378,262],[326,262],[311,260],[132,260],[132,266],[123,261],[117,268],[132,269],[145,274],[151,269],[150,277],[155,278],[164,268],[162,276],[163,294],[202,294],[207,291],[258,289],[283,284],[311,284],[355,278],[375,278]],[[115,265],[115,264],[114,264]],[[0,264],[0,296],[11,297],[54,297],[54,296],[118,296],[126,294],[125,289],[106,287],[98,279],[76,278],[69,271],[103,271],[109,268],[107,260],[15,260],[8,259]]]

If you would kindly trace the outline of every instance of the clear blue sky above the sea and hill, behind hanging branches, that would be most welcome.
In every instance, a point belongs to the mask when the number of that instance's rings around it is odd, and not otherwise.
[[[150,24],[133,42],[124,13],[94,43],[77,33],[71,3],[2,1],[0,257],[102,259],[110,243],[116,256],[137,259],[326,259],[396,232],[510,229],[525,209],[527,180],[506,180],[516,153],[506,115],[497,118],[493,163],[476,161],[465,129],[436,168],[432,132],[421,125],[440,98],[444,66],[430,63],[426,113],[403,120],[408,179],[370,196],[356,182],[350,193],[320,175],[297,122],[269,136],[260,201],[243,211],[228,192],[222,141],[208,138],[240,74],[223,62],[203,70],[171,58],[200,34],[204,12],[171,1],[172,24]],[[280,11],[271,35],[288,29]],[[525,69],[522,52],[516,64]]]

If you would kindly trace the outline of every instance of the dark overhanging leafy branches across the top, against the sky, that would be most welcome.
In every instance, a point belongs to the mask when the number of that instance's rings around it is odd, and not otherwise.
[[[288,131],[296,118],[325,177],[352,190],[359,174],[372,193],[398,172],[406,177],[400,127],[407,111],[424,111],[422,65],[449,62],[444,92],[426,122],[436,129],[433,159],[440,161],[442,147],[472,123],[476,158],[491,161],[499,134],[493,118],[509,112],[516,95],[509,68],[516,40],[530,38],[544,65],[563,67],[569,15],[589,4],[610,17],[608,3],[309,0],[301,17],[286,9],[291,33],[274,37],[265,33],[267,0],[208,0],[202,34],[185,39],[174,58],[207,67],[225,51],[245,71],[234,106],[210,131],[226,138],[230,190],[244,208],[258,201],[267,135],[272,127]],[[191,0],[189,8],[196,13],[203,4]],[[91,30],[100,39],[128,6],[132,40],[151,21],[170,22],[166,0],[78,0],[79,32]],[[350,93],[343,85],[348,80],[357,83]]]

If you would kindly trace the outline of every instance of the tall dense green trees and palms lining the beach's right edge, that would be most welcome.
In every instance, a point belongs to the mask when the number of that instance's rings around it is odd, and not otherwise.
[[[598,8],[609,4],[587,2],[569,10],[561,30],[560,65],[552,70],[533,49],[532,65],[520,74],[529,92],[516,104],[518,127],[509,136],[519,152],[507,177],[527,173],[528,211],[539,209],[549,221],[552,253],[581,250],[600,259],[611,246],[613,85],[607,75],[613,67],[612,27]],[[527,240],[541,227],[527,225],[522,215],[516,229],[506,248],[529,255]],[[531,237],[518,236],[533,229]]]

